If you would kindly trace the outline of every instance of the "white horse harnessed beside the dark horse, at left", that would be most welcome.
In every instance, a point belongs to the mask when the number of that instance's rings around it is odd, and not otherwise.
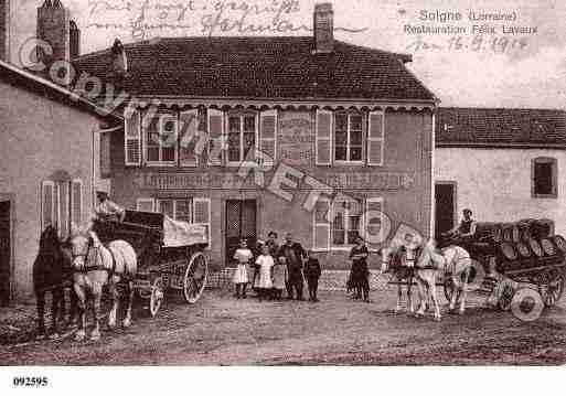
[[[92,296],[94,302],[94,330],[90,333],[90,340],[100,339],[98,315],[104,286],[108,286],[113,300],[108,327],[114,329],[120,301],[118,283],[126,285],[128,307],[121,324],[126,329],[129,328],[135,293],[134,277],[138,269],[138,258],[134,247],[126,240],[113,240],[105,246],[92,231],[76,233],[70,243],[75,271],[73,275],[74,289],[78,297],[79,311],[79,324],[75,340],[83,341],[86,336],[86,299],[88,295]]]

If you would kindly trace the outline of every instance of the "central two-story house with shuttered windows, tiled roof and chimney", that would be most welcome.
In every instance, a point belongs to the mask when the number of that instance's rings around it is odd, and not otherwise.
[[[106,143],[113,199],[206,225],[218,266],[269,231],[344,266],[366,211],[385,214],[382,239],[401,225],[428,236],[435,96],[409,55],[335,41],[330,4],[313,21],[313,36],[154,39],[79,57],[77,74],[129,95]]]

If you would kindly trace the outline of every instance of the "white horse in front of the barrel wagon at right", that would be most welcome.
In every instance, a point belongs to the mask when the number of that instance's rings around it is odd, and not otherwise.
[[[450,299],[450,312],[456,310],[457,301],[460,301],[459,313],[463,314],[466,310],[466,297],[468,295],[468,283],[471,280],[472,260],[470,254],[462,247],[448,245],[436,250],[436,242],[430,239],[423,246],[423,254],[415,266],[415,280],[417,281],[420,295],[420,307],[416,314],[425,314],[425,303],[428,298],[432,300],[435,307],[435,320],[440,321],[440,306],[436,293],[436,280],[440,274],[445,279],[449,277],[452,286],[452,296]]]

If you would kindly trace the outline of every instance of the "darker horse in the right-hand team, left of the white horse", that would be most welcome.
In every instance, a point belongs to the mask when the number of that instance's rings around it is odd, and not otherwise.
[[[382,248],[380,254],[382,256],[381,272],[393,272],[393,277],[397,283],[397,304],[395,307],[395,313],[401,311],[404,282],[407,282],[407,304],[409,307],[409,312],[413,313],[415,311],[415,307],[413,304],[412,289],[415,275],[414,268],[406,265],[406,255],[402,249],[402,245],[397,246],[392,244],[389,247]]]

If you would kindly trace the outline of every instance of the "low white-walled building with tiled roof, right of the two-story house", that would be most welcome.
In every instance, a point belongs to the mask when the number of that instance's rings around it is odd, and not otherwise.
[[[566,234],[566,113],[439,108],[436,232],[470,207],[482,222],[552,218]]]

